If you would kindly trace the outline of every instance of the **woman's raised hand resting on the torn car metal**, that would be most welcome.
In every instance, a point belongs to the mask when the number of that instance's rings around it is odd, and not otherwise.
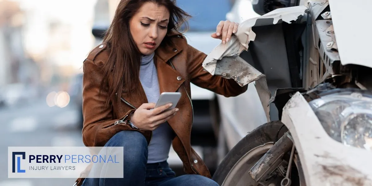
[[[222,44],[226,44],[231,38],[233,33],[238,31],[239,23],[226,21],[220,21],[217,25],[215,33],[212,33],[212,38],[221,39]]]

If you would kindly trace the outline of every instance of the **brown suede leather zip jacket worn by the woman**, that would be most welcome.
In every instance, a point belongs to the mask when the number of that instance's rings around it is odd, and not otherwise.
[[[202,62],[206,54],[188,45],[182,35],[174,35],[171,38],[174,46],[157,48],[154,62],[160,92],[182,93],[177,104],[180,110],[168,121],[176,134],[172,141],[173,149],[182,160],[187,174],[200,174],[211,178],[204,162],[190,145],[193,121],[190,82],[226,97],[237,96],[245,92],[247,86],[240,87],[232,79],[212,76],[207,71],[203,71]],[[102,95],[99,96],[102,80],[99,69],[108,60],[109,52],[106,43],[103,43],[94,48],[83,63],[83,142],[87,147],[102,147],[117,132],[136,130],[127,125],[126,121],[130,119],[130,114],[135,108],[147,101],[141,87],[139,92],[131,95],[122,93],[121,102],[112,100],[109,106],[105,106],[106,98],[102,96],[105,92],[101,92]],[[152,132],[137,131],[145,136],[149,144]],[[87,175],[89,169],[90,167],[81,175]],[[77,185],[81,185],[83,179],[78,179],[77,182]]]

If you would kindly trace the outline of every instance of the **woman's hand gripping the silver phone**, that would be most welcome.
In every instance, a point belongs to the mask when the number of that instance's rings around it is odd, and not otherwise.
[[[133,113],[131,122],[142,131],[153,131],[176,115],[178,108],[167,110],[172,105],[169,103],[155,108],[155,103],[144,103]]]

